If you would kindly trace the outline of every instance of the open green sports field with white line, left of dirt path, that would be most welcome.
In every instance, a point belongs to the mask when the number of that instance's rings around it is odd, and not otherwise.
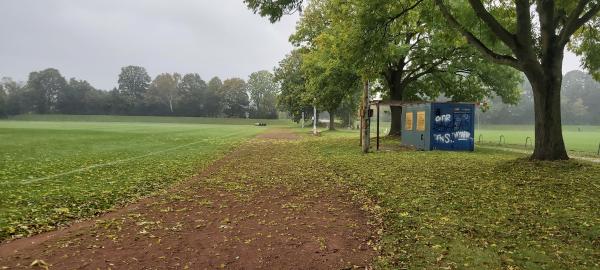
[[[0,121],[0,240],[51,230],[189,178],[264,130],[153,117],[77,120]]]

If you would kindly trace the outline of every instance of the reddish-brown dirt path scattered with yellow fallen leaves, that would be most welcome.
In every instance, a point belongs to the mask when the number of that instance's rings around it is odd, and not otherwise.
[[[266,133],[164,194],[3,244],[0,269],[364,268],[366,214],[297,139]]]

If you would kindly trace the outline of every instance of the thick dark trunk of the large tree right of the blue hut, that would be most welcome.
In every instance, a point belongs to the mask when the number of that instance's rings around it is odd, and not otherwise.
[[[533,88],[535,111],[535,148],[531,159],[567,160],[560,118],[561,65],[548,65],[543,73],[543,76],[527,76]]]

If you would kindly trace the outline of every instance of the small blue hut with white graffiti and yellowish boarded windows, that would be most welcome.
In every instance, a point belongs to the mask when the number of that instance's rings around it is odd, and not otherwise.
[[[419,150],[475,149],[475,104],[407,104],[402,108],[402,123],[403,145]]]

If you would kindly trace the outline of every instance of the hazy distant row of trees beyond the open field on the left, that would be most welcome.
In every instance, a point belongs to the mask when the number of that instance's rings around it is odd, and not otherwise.
[[[0,116],[37,114],[115,114],[277,118],[279,88],[269,71],[245,81],[162,73],[154,79],[140,66],[121,69],[118,87],[94,88],[85,80],[66,80],[57,69],[29,74],[26,83],[0,81]]]

